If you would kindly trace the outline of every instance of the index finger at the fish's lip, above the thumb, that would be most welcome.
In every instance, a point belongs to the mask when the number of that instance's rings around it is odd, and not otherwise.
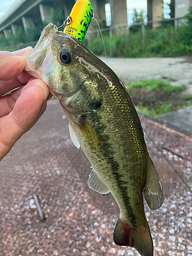
[[[15,52],[0,51],[0,80],[7,81],[20,75],[31,51],[32,47]]]

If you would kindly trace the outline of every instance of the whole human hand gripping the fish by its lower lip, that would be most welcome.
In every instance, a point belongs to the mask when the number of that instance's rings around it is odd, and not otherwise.
[[[0,161],[46,110],[47,85],[24,71],[31,51],[0,51]]]

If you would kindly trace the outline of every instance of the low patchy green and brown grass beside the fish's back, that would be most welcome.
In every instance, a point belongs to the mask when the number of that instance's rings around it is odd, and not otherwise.
[[[141,80],[126,86],[138,112],[156,117],[192,105],[192,95],[183,95],[186,86],[172,86],[164,80]]]

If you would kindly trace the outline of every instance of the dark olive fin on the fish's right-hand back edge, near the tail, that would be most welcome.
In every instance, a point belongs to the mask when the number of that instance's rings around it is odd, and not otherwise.
[[[156,210],[163,204],[161,181],[150,157],[147,161],[146,183],[143,193],[150,209]]]

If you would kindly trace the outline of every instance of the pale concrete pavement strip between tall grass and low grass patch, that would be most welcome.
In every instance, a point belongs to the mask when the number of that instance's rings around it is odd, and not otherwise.
[[[105,57],[100,57],[106,62]],[[192,56],[174,58],[111,58],[108,65],[123,82],[141,79],[165,79],[185,84],[192,94]]]

